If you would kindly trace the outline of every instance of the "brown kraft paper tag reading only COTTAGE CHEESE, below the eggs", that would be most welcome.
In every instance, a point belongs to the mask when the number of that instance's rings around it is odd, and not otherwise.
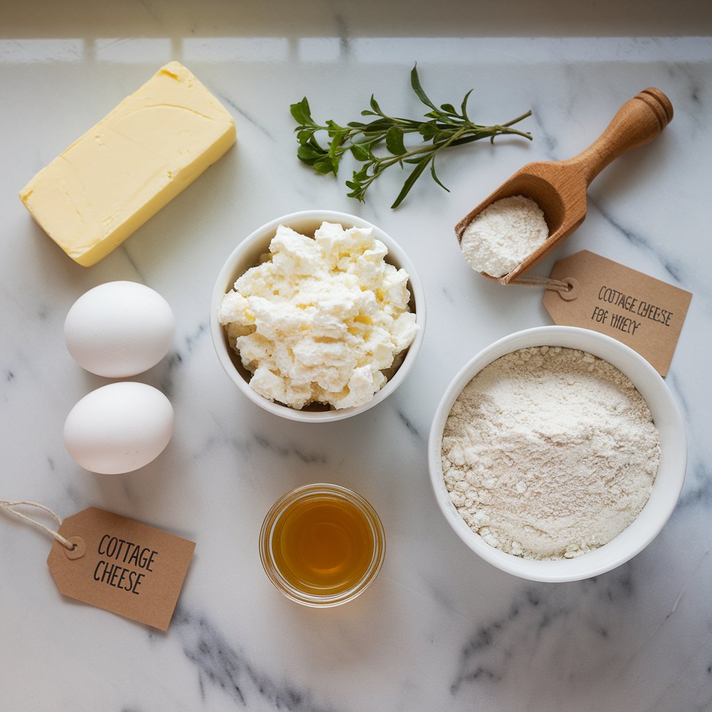
[[[47,565],[60,592],[167,630],[195,543],[103,509],[66,518]]]

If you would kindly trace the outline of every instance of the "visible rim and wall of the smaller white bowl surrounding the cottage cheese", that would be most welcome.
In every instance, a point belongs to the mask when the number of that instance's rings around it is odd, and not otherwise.
[[[239,356],[230,348],[225,330],[218,321],[218,310],[223,295],[233,288],[236,279],[249,268],[256,266],[260,256],[268,252],[270,241],[274,237],[279,225],[287,225],[302,234],[313,235],[314,231],[324,221],[339,223],[344,227],[373,228],[376,238],[382,241],[388,248],[386,261],[397,268],[404,268],[409,275],[408,288],[411,293],[410,308],[416,315],[418,330],[398,370],[369,402],[354,408],[343,408],[340,410],[328,410],[325,409],[325,407],[322,409],[308,407],[303,410],[296,410],[280,403],[273,403],[251,389],[249,386],[251,374],[244,369]],[[246,239],[235,248],[229,258],[227,258],[216,280],[210,303],[210,331],[213,337],[213,345],[222,367],[225,369],[226,374],[232,379],[232,382],[234,382],[246,397],[261,408],[282,418],[301,422],[325,423],[349,418],[374,407],[386,399],[399,387],[411,370],[423,341],[424,330],[425,295],[415,268],[406,253],[398,246],[397,242],[377,226],[355,215],[333,210],[305,210],[298,213],[291,213],[276,218],[256,229],[251,235],[246,237]]]

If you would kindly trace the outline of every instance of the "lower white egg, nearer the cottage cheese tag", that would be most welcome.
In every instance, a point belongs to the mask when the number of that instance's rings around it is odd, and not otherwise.
[[[64,423],[64,445],[82,467],[131,472],[162,453],[173,434],[173,407],[145,383],[110,383],[85,395]]]

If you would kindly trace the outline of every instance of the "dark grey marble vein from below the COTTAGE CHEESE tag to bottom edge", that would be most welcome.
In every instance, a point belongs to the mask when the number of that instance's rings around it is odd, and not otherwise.
[[[221,689],[242,707],[261,698],[276,709],[290,712],[333,712],[316,702],[312,693],[290,682],[278,682],[249,661],[211,622],[194,616],[184,607],[176,609],[172,628],[177,631],[184,654],[196,666],[201,696],[208,684]]]

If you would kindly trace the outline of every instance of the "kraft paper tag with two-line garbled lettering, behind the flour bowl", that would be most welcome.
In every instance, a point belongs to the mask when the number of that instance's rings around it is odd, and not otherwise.
[[[667,375],[691,293],[588,250],[555,263],[551,278],[572,285],[544,294],[555,324],[612,336]]]

